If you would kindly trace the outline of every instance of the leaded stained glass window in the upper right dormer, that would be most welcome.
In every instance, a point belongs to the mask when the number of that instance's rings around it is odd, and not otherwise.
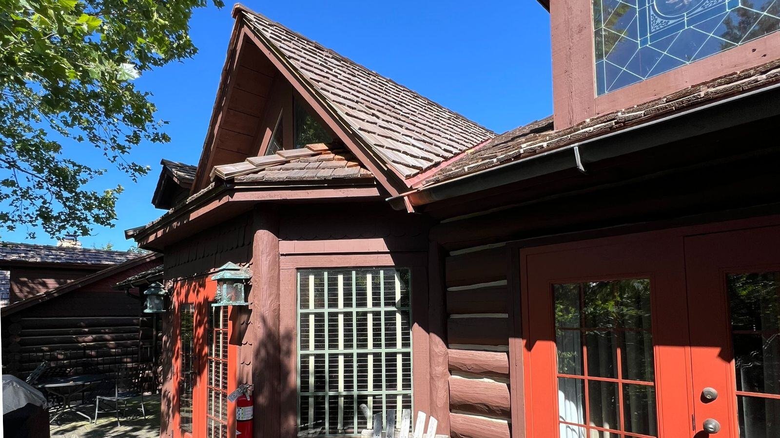
[[[593,0],[596,94],[780,30],[780,0]]]

